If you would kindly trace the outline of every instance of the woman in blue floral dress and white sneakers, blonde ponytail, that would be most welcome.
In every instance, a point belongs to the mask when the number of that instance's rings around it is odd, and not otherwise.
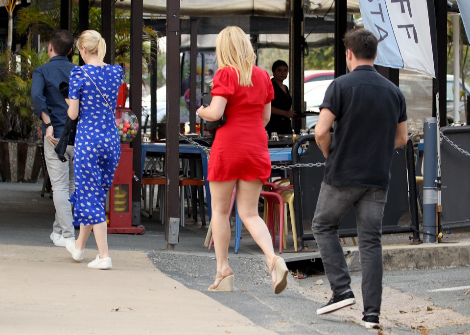
[[[82,32],[77,47],[85,65],[71,71],[68,114],[71,119],[79,118],[73,161],[75,192],[70,201],[73,225],[80,226],[80,233],[66,247],[81,262],[93,230],[99,254],[88,267],[109,269],[105,203],[121,154],[115,112],[123,71],[103,62],[106,44],[97,31]]]

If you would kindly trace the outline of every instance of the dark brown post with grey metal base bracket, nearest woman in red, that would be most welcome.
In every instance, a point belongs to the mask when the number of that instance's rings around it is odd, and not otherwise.
[[[166,0],[166,189],[165,242],[167,249],[178,244],[179,131],[180,131],[180,2]]]

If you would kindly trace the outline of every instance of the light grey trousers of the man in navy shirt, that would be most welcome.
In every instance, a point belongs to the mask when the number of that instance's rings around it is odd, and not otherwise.
[[[65,156],[67,162],[61,162],[49,141],[44,141],[44,156],[46,158],[47,172],[52,185],[52,196],[55,207],[55,220],[52,231],[64,237],[75,237],[72,225],[72,206],[70,195],[75,190],[73,176],[73,146],[67,146]]]

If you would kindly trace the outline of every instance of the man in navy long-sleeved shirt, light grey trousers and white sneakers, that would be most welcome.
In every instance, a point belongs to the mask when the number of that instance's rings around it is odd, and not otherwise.
[[[68,161],[65,163],[59,160],[54,151],[68,117],[69,106],[59,91],[59,84],[69,82],[71,69],[75,66],[67,58],[73,43],[73,36],[69,31],[53,31],[47,47],[50,61],[34,69],[31,85],[34,113],[43,121],[44,156],[56,211],[50,239],[56,246],[66,246],[68,241],[75,240],[69,202],[69,196],[75,189],[73,146],[67,147],[65,156]]]

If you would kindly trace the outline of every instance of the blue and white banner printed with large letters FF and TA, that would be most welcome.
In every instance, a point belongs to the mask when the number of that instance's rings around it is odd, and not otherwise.
[[[374,64],[436,78],[426,0],[359,0],[359,9],[378,39]]]

